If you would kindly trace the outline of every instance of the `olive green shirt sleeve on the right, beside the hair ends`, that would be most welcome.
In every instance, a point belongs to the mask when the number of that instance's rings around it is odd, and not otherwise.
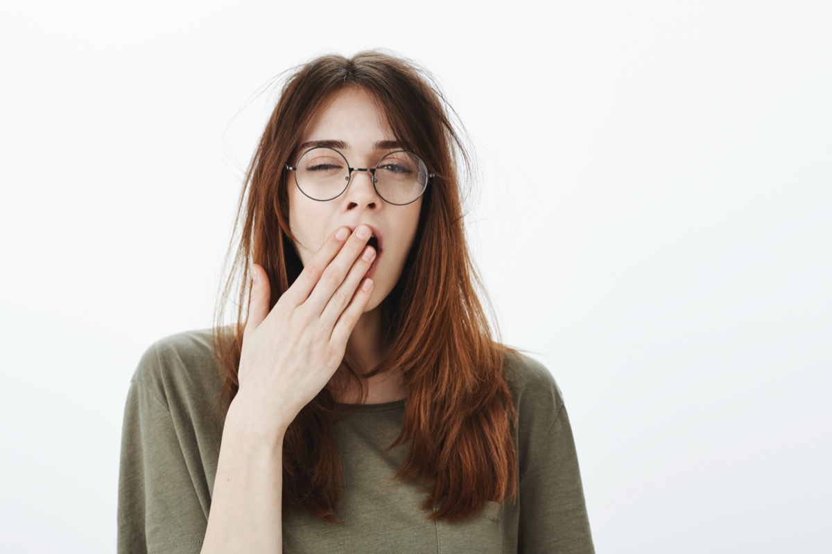
[[[595,552],[575,441],[564,405],[522,478],[519,498],[518,552]]]

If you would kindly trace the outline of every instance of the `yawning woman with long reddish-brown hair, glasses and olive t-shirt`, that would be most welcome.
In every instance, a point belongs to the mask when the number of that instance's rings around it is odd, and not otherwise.
[[[474,292],[448,110],[379,52],[290,76],[240,199],[247,313],[131,382],[120,552],[592,552],[557,385]]]

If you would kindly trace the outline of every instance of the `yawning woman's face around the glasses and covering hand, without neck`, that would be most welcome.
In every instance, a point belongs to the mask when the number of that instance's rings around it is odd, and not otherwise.
[[[374,99],[359,87],[348,86],[334,94],[310,121],[301,140],[300,156],[325,142],[334,147],[354,168],[374,168],[393,150],[395,137]],[[295,163],[295,159],[291,160]],[[336,228],[350,229],[364,223],[378,238],[379,248],[368,275],[374,289],[365,311],[373,310],[399,281],[404,261],[414,243],[422,198],[404,206],[385,202],[376,193],[366,171],[354,171],[349,186],[339,197],[319,202],[305,196],[290,177],[289,225],[295,235],[295,250],[306,264]]]

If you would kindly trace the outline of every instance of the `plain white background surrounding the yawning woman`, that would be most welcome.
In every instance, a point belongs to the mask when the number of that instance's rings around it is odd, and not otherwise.
[[[832,552],[829,2],[4,2],[0,551],[112,552],[153,341],[210,326],[280,71],[387,47],[482,179],[598,552]]]

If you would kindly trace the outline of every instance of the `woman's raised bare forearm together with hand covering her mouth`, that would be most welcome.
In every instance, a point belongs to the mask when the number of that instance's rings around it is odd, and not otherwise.
[[[203,554],[282,552],[283,438],[338,370],[373,293],[364,277],[371,234],[339,228],[273,308],[269,278],[252,264],[240,390],[225,418]]]

